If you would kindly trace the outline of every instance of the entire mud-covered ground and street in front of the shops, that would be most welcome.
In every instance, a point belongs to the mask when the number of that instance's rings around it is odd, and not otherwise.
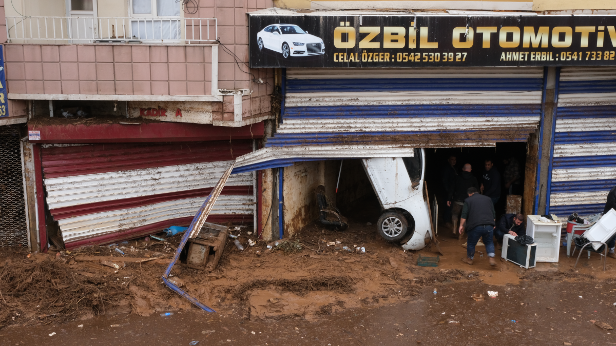
[[[537,345],[530,340],[562,345],[564,336],[578,345],[616,343],[607,334],[611,331],[589,322],[616,325],[613,259],[608,259],[606,272],[598,254],[590,259],[583,255],[573,268],[575,259],[567,258],[561,248],[559,263],[539,263],[530,270],[501,261],[492,268],[480,253],[469,266],[460,262],[466,254],[461,246],[465,240],[458,241],[442,228],[439,233],[445,255],[439,267],[431,268],[416,262],[419,254],[436,256],[432,249],[404,252],[379,238],[373,225],[352,223],[344,232],[311,225],[270,251],[262,242],[248,246],[248,239],[254,238],[242,231],[246,250],[238,251],[229,241],[214,272],[184,265],[172,271],[184,289],[214,308],[216,315],[200,312],[164,286],[160,275],[168,260],[121,260],[170,257],[179,236],[166,243],[141,239],[120,244],[126,255],[106,246],[30,258],[19,249],[5,250],[0,253],[0,344],[12,342],[16,335],[23,336],[15,339],[18,343],[46,336],[50,345],[59,340],[63,345],[110,340],[184,344],[188,339],[256,345],[416,340],[428,345],[493,345],[495,337],[522,345]],[[344,246],[365,247],[366,252],[349,252]],[[111,255],[126,267],[118,270],[83,260]],[[488,290],[498,291],[498,298],[488,298]],[[472,294],[483,294],[485,300],[475,302]],[[176,315],[162,320],[162,312]],[[51,332],[57,333],[55,339],[47,337]],[[62,334],[65,337],[59,337]],[[88,341],[86,336],[95,339]],[[269,338],[278,341],[268,342]]]

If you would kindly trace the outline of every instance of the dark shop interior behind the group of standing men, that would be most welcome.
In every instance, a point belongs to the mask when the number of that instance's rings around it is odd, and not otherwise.
[[[437,201],[439,201],[439,228],[449,221],[445,220],[445,207],[447,203],[443,175],[448,167],[448,158],[450,156],[455,156],[456,158],[455,167],[458,174],[460,174],[464,164],[471,164],[471,174],[477,178],[479,185],[482,182],[482,174],[485,170],[485,160],[490,159],[492,161],[492,169],[496,169],[500,177],[500,198],[495,204],[496,220],[498,220],[500,215],[505,214],[507,195],[524,195],[526,153],[526,142],[496,143],[496,147],[426,149],[426,182],[428,183],[428,191],[431,198],[436,196]],[[510,159],[513,159],[514,165],[517,163],[517,172],[519,173],[516,183],[511,184],[511,191],[509,188],[505,188],[505,171],[508,169],[505,160]],[[533,196],[524,196],[524,198],[533,198]]]

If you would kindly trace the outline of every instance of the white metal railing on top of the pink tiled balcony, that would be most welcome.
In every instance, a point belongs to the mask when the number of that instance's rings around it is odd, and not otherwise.
[[[207,43],[216,41],[216,18],[6,17],[9,42]]]

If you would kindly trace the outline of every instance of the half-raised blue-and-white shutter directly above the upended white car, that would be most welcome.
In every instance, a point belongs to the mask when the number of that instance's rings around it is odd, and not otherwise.
[[[525,141],[542,88],[542,68],[287,69],[283,121],[265,146]]]

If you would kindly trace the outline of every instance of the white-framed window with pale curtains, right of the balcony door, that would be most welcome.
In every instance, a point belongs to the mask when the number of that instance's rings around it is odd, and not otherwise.
[[[132,37],[142,40],[180,39],[180,6],[177,0],[132,0]]]

